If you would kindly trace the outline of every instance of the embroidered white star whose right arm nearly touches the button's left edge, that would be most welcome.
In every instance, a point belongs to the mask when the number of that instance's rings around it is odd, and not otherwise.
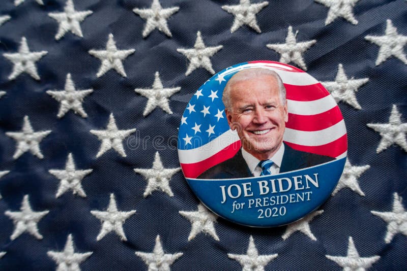
[[[146,191],[144,191],[143,196],[147,197],[155,190],[161,190],[167,193],[169,196],[173,196],[171,188],[169,187],[169,180],[172,175],[176,174],[181,170],[181,167],[177,168],[164,168],[160,154],[156,152],[153,167],[152,168],[134,168],[134,171],[141,174],[147,179]]]

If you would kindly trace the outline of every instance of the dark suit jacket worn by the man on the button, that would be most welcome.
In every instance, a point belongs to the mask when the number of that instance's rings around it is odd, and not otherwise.
[[[300,170],[301,168],[322,164],[332,160],[335,160],[335,158],[297,151],[284,144],[284,154],[281,161],[280,173]],[[242,156],[242,150],[239,150],[234,157],[212,166],[197,178],[235,179],[248,177],[253,177],[253,175]]]

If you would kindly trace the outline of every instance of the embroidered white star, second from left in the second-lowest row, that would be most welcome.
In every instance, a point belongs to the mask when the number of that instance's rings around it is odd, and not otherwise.
[[[110,231],[116,232],[120,236],[122,241],[127,241],[126,235],[124,234],[123,224],[125,223],[126,219],[130,216],[134,215],[136,210],[131,210],[129,212],[120,212],[118,211],[116,200],[114,198],[114,194],[110,194],[110,202],[109,207],[107,208],[106,212],[102,211],[91,211],[91,214],[100,219],[102,222],[102,228],[100,229],[99,235],[97,236],[96,240],[101,240],[107,233]]]

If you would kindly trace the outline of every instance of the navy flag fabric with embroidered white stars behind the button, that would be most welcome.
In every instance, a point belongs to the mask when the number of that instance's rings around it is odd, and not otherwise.
[[[2,1],[0,268],[405,269],[406,15],[404,0]],[[333,195],[288,226],[217,218],[180,170],[190,99],[252,60],[306,69],[346,125]]]

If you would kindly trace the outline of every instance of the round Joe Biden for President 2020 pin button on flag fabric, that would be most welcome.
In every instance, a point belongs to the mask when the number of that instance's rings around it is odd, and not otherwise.
[[[178,135],[185,179],[215,214],[285,225],[325,202],[346,160],[346,128],[315,78],[280,62],[219,72],[192,96]]]

